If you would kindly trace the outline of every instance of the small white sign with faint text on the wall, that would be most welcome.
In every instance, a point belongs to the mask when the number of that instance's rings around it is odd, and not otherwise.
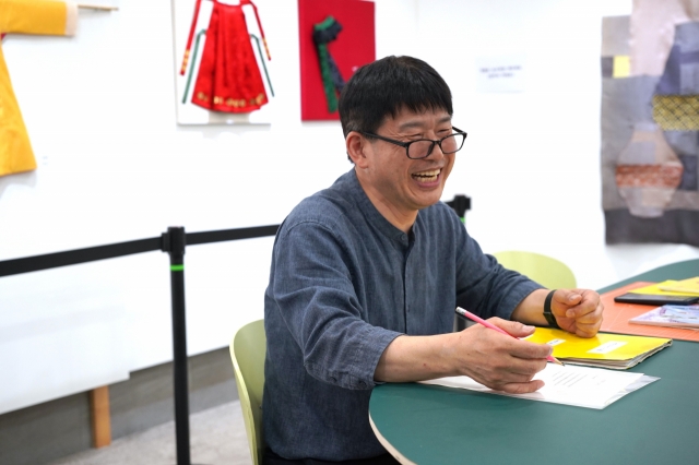
[[[525,62],[523,53],[476,58],[476,90],[483,93],[524,92]]]

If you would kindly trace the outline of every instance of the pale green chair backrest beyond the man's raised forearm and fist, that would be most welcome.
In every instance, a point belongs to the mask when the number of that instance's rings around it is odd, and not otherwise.
[[[549,289],[577,287],[576,275],[564,262],[541,253],[511,250],[493,254],[508,270],[514,270]]]

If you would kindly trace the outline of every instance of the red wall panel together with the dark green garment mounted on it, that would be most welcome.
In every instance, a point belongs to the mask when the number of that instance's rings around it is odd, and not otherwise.
[[[336,120],[352,74],[376,59],[374,2],[298,0],[301,120]]]

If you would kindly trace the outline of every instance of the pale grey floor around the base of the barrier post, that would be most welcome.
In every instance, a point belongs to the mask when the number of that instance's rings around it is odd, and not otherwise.
[[[251,465],[238,401],[190,416],[191,463]],[[175,465],[175,422],[119,438],[111,445],[70,455],[54,465]]]

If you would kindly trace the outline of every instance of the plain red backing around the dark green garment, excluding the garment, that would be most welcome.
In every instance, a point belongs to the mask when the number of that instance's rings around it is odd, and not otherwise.
[[[362,0],[298,0],[298,31],[301,70],[301,121],[336,120],[328,111],[320,75],[313,25],[329,15],[342,25],[337,38],[328,45],[345,82],[363,64],[376,60],[374,2]]]

